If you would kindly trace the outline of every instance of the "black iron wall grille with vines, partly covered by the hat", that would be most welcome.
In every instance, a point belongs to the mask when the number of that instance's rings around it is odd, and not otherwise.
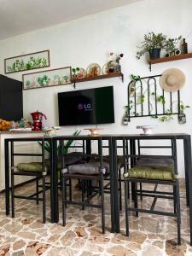
[[[180,91],[166,92],[160,87],[160,76],[133,79],[128,84],[127,113],[129,121],[137,117],[154,117],[180,113]]]

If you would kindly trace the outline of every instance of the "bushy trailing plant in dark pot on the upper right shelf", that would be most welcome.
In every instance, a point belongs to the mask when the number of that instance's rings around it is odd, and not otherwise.
[[[166,36],[162,33],[155,34],[154,32],[149,32],[144,35],[144,40],[141,46],[137,46],[140,48],[137,51],[137,59],[140,59],[146,52],[148,52],[150,59],[158,59],[160,58],[160,49],[164,49],[166,45]]]

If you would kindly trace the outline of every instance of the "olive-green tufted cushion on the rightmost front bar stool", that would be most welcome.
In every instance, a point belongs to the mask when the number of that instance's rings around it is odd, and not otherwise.
[[[135,166],[134,168],[131,168],[129,172],[126,172],[124,174],[124,177],[172,180],[172,179],[176,179],[177,175],[175,175],[173,172],[173,166],[166,166],[163,168]]]

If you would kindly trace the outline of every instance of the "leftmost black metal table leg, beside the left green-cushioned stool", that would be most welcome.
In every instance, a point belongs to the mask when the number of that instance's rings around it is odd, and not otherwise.
[[[4,143],[4,154],[5,154],[5,207],[6,214],[10,212],[10,201],[9,201],[9,141],[5,140]]]

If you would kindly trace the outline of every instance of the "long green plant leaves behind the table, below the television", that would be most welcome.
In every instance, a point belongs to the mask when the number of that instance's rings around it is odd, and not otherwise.
[[[81,132],[81,131],[75,131],[75,132],[73,133],[73,136],[79,136],[79,133],[80,133],[80,132]],[[57,145],[57,148],[56,148],[57,155],[68,154],[68,150],[69,150],[69,148],[72,146],[74,140],[75,140],[75,139],[68,140],[67,143],[65,143],[64,146]],[[42,146],[42,143],[38,142],[38,144]],[[44,143],[44,149],[45,149],[47,152],[50,152],[50,144],[49,144],[49,142],[45,142],[45,143]]]

